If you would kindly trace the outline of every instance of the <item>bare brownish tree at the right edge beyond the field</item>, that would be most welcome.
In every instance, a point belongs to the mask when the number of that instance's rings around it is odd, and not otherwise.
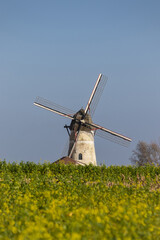
[[[139,141],[130,160],[138,166],[146,164],[160,165],[160,146],[155,142],[147,144],[146,142]]]

